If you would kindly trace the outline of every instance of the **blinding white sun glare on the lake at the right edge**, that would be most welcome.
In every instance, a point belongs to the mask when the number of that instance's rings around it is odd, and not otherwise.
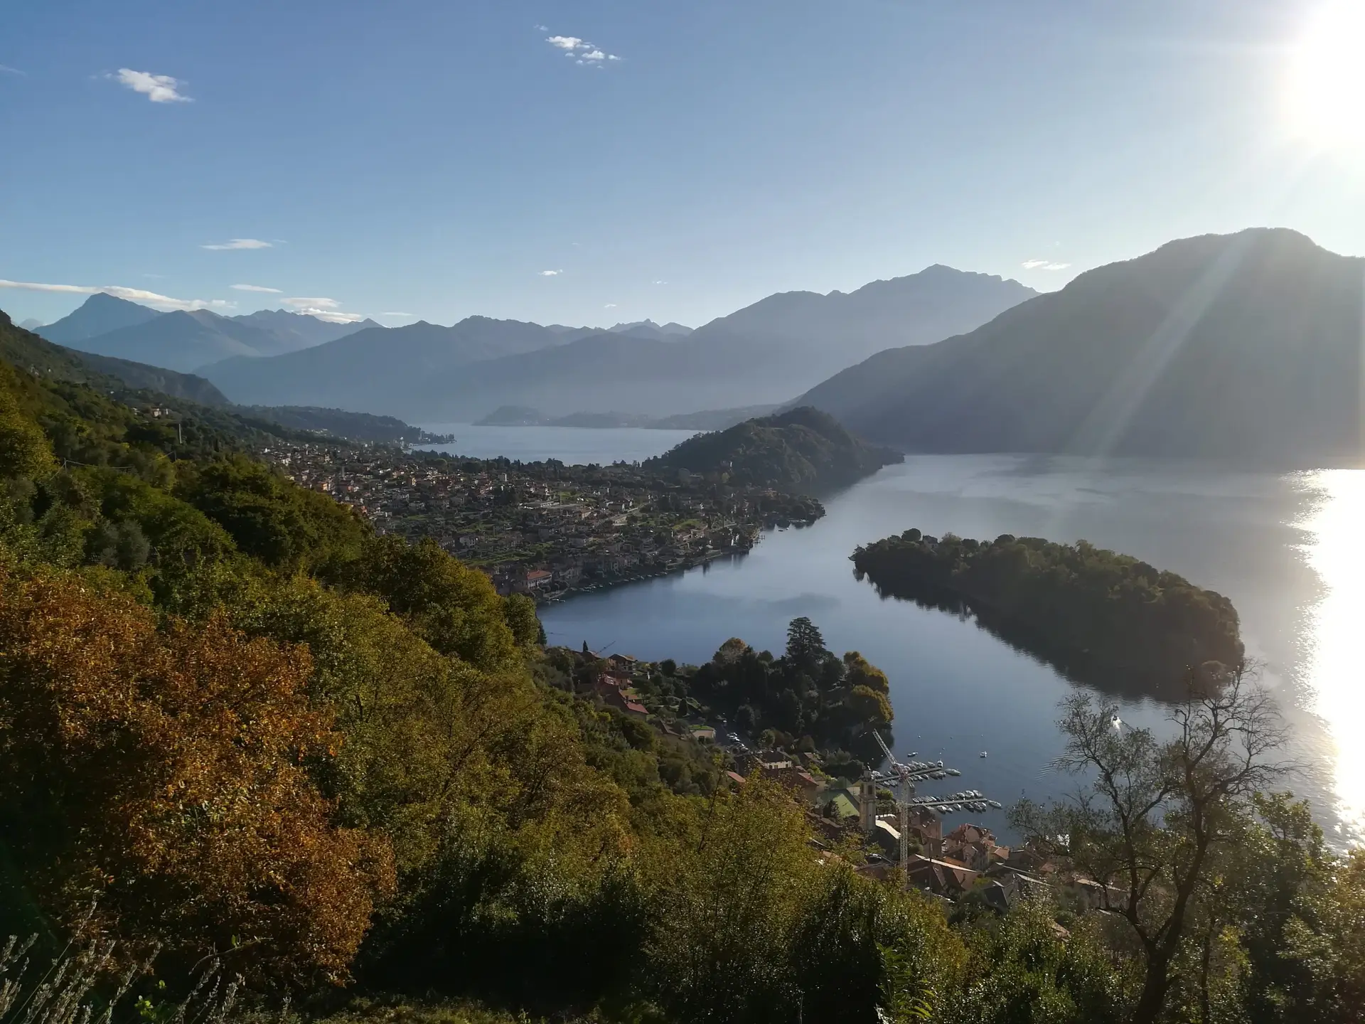
[[[1365,471],[1325,470],[1305,477],[1316,505],[1299,526],[1308,564],[1323,582],[1323,597],[1304,632],[1306,705],[1335,747],[1332,789],[1345,830],[1365,830]]]

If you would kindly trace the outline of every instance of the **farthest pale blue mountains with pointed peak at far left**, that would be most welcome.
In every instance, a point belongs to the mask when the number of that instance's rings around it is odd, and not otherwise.
[[[37,328],[37,333],[82,352],[188,373],[231,356],[281,355],[371,328],[384,329],[373,319],[333,324],[287,310],[240,317],[209,310],[158,313],[97,292],[70,315]]]

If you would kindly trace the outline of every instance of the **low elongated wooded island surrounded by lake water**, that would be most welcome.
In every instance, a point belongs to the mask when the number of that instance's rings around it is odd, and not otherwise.
[[[850,557],[883,597],[971,613],[1063,674],[1110,691],[1181,696],[1245,654],[1226,597],[1085,541],[906,530]]]

